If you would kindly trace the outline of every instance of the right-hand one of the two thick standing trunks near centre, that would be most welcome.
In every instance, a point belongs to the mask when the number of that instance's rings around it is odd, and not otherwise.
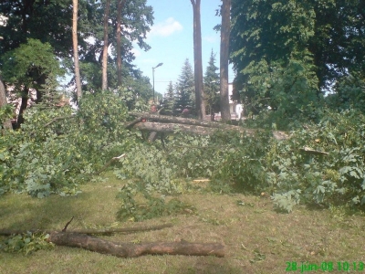
[[[228,58],[229,58],[229,34],[230,34],[230,9],[231,0],[222,0],[222,28],[221,28],[221,115],[223,121],[231,120],[231,111],[229,110],[229,93],[228,93]]]

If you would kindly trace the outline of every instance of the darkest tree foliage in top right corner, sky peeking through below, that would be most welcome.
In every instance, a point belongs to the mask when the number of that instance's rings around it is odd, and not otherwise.
[[[345,75],[364,72],[364,1],[310,1],[316,13],[315,35],[309,39],[320,87]],[[363,79],[363,77],[362,77]]]

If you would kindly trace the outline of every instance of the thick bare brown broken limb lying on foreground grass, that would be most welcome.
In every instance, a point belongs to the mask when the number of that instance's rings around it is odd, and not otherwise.
[[[120,258],[132,258],[142,255],[187,255],[224,257],[224,245],[218,243],[153,242],[153,243],[115,243],[90,237],[85,234],[53,232],[47,241],[57,246],[84,248],[102,254]]]

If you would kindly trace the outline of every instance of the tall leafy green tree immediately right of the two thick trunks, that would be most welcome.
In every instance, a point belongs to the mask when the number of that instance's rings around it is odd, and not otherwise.
[[[308,42],[315,19],[307,2],[232,1],[234,87],[246,110],[258,113],[271,107],[277,117],[292,120],[313,112],[308,106],[317,103],[318,79]]]

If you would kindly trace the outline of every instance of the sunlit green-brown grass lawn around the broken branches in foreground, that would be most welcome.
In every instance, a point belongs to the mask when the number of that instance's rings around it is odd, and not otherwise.
[[[110,177],[105,182],[83,185],[83,193],[78,196],[55,195],[42,200],[27,195],[2,196],[0,229],[61,230],[71,216],[75,219],[68,229],[169,222],[173,227],[103,238],[120,242],[220,242],[225,245],[225,257],[115,258],[78,248],[56,247],[28,256],[0,252],[0,273],[285,273],[287,261],[299,265],[332,261],[336,266],[338,261],[365,262],[365,217],[349,215],[346,208],[297,206],[291,214],[279,214],[266,197],[185,194],[179,198],[194,205],[196,215],[116,223],[120,209],[116,195],[122,185],[122,181]]]

